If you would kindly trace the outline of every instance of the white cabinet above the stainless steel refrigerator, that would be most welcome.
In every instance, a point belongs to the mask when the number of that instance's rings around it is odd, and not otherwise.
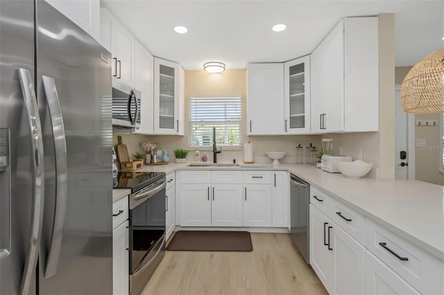
[[[45,0],[53,8],[62,12],[65,17],[71,19],[77,26],[85,30],[91,37],[100,40],[100,1],[60,1]]]

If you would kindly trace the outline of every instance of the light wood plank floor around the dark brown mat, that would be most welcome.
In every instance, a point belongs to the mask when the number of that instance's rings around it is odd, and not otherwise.
[[[327,294],[286,233],[251,233],[252,252],[167,251],[142,295]]]

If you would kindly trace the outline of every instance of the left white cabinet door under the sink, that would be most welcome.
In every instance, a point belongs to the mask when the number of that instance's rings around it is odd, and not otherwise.
[[[180,225],[211,226],[210,185],[180,185]]]

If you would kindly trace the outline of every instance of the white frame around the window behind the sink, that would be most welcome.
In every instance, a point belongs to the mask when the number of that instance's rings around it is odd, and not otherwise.
[[[189,138],[188,138],[188,149],[189,150],[212,150],[212,145],[192,145],[191,141],[194,138],[193,136],[193,130],[191,129],[193,124],[191,121],[191,103],[193,99],[199,99],[199,98],[210,98],[210,99],[217,99],[217,98],[238,98],[240,100],[240,120],[239,120],[239,145],[220,145],[217,144],[218,149],[221,147],[222,150],[242,150],[242,143],[243,143],[243,123],[244,123],[244,97],[239,94],[227,94],[227,95],[189,95],[188,100],[188,107],[189,107]],[[226,125],[225,125],[226,126]]]

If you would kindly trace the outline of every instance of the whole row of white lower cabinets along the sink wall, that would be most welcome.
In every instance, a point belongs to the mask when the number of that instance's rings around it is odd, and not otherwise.
[[[178,175],[180,226],[289,227],[289,173],[185,170]]]

